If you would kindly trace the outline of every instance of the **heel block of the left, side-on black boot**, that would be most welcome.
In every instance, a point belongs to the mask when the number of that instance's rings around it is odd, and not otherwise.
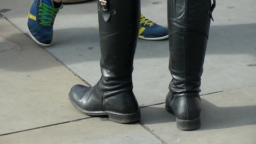
[[[117,122],[117,123],[132,123],[139,121],[141,118],[140,116],[140,109],[132,114],[118,114],[118,113],[108,113],[109,121]]]

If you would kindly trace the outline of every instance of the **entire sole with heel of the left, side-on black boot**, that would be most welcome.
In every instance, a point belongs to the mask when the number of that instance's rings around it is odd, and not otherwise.
[[[77,106],[76,103],[73,101],[73,99],[70,97],[70,95],[69,95],[69,100],[77,110],[89,116],[108,115],[109,121],[113,121],[117,123],[132,123],[132,122],[139,121],[141,118],[140,109],[138,109],[138,111],[136,111],[135,113],[131,113],[131,114],[116,113],[114,111],[87,111]]]

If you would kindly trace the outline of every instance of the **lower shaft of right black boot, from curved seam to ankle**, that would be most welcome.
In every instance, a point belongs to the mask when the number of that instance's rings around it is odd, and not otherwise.
[[[204,35],[183,31],[169,36],[169,70],[173,77],[173,93],[200,92],[207,38]]]

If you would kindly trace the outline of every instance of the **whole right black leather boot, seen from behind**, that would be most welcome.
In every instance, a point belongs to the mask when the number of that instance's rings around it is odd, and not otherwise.
[[[201,127],[199,89],[215,2],[168,0],[168,29],[172,81],[165,108],[177,118],[180,130]]]

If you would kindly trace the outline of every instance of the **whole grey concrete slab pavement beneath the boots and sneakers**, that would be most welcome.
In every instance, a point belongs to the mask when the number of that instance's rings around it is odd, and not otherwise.
[[[202,127],[180,131],[164,108],[168,41],[139,39],[134,93],[141,121],[89,117],[69,102],[75,84],[100,78],[97,1],[66,4],[49,47],[26,28],[30,0],[0,2],[0,143],[256,143],[254,0],[217,1],[202,76]],[[166,1],[141,0],[142,14],[167,27]]]

